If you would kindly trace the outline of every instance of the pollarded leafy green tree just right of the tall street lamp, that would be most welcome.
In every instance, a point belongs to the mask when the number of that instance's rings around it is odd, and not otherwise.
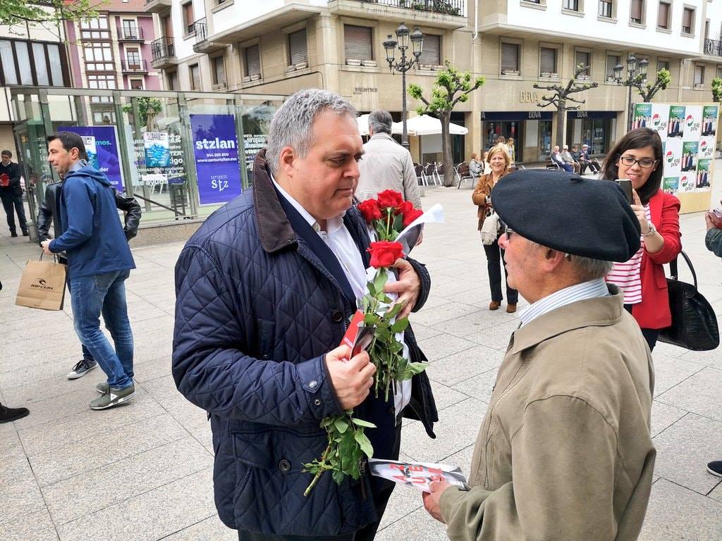
[[[425,115],[431,113],[441,120],[441,146],[444,160],[444,185],[453,185],[453,162],[451,161],[451,112],[458,103],[469,100],[469,94],[484,84],[484,77],[471,76],[469,71],[461,72],[451,66],[447,60],[445,69],[441,71],[431,91],[430,99],[424,97],[424,91],[418,84],[409,84],[409,96],[420,100],[424,105],[419,106],[417,113]]]

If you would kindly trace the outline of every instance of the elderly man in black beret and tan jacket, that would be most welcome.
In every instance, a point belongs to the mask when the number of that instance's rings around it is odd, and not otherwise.
[[[604,276],[640,247],[614,182],[524,170],[492,204],[510,286],[529,301],[497,374],[471,490],[433,483],[451,540],[635,540],[652,484],[653,367]]]

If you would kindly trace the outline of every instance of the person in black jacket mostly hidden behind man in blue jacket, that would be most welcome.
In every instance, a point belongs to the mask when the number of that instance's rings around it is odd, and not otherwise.
[[[60,180],[59,182],[51,182],[45,187],[45,198],[43,198],[43,202],[40,203],[40,206],[38,207],[38,219],[36,221],[38,224],[38,241],[40,242],[40,246],[43,245],[45,240],[52,239],[53,237],[57,238],[61,235],[61,224],[58,219],[58,207],[60,206],[59,199],[63,188],[63,182],[63,180]],[[123,233],[125,233],[126,239],[130,241],[136,236],[136,234],[138,234],[138,225],[140,223],[142,213],[141,206],[134,198],[126,197],[115,188],[112,189],[113,195],[116,199],[116,207],[125,214],[125,226],[123,227]],[[51,222],[53,224],[53,236],[49,234]],[[68,263],[67,259],[62,255],[58,256],[58,261],[64,264]],[[80,359],[80,361],[78,361],[77,364],[73,366],[73,369],[67,374],[68,379],[78,379],[83,377],[97,366],[97,362],[93,359],[93,356],[88,348],[86,348],[82,343],[80,345],[82,346],[82,359]]]

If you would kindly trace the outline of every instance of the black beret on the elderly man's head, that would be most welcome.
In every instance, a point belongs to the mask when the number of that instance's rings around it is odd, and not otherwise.
[[[518,170],[497,182],[492,206],[510,229],[552,250],[624,262],[640,247],[637,216],[612,180]]]

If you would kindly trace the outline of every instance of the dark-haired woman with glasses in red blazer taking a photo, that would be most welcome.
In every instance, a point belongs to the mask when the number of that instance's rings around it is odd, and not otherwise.
[[[602,178],[632,182],[632,210],[642,231],[639,251],[626,263],[614,263],[606,281],[622,289],[625,309],[634,316],[653,350],[661,329],[671,325],[662,265],[682,251],[679,199],[660,189],[662,141],[650,128],[625,135],[604,159]]]

